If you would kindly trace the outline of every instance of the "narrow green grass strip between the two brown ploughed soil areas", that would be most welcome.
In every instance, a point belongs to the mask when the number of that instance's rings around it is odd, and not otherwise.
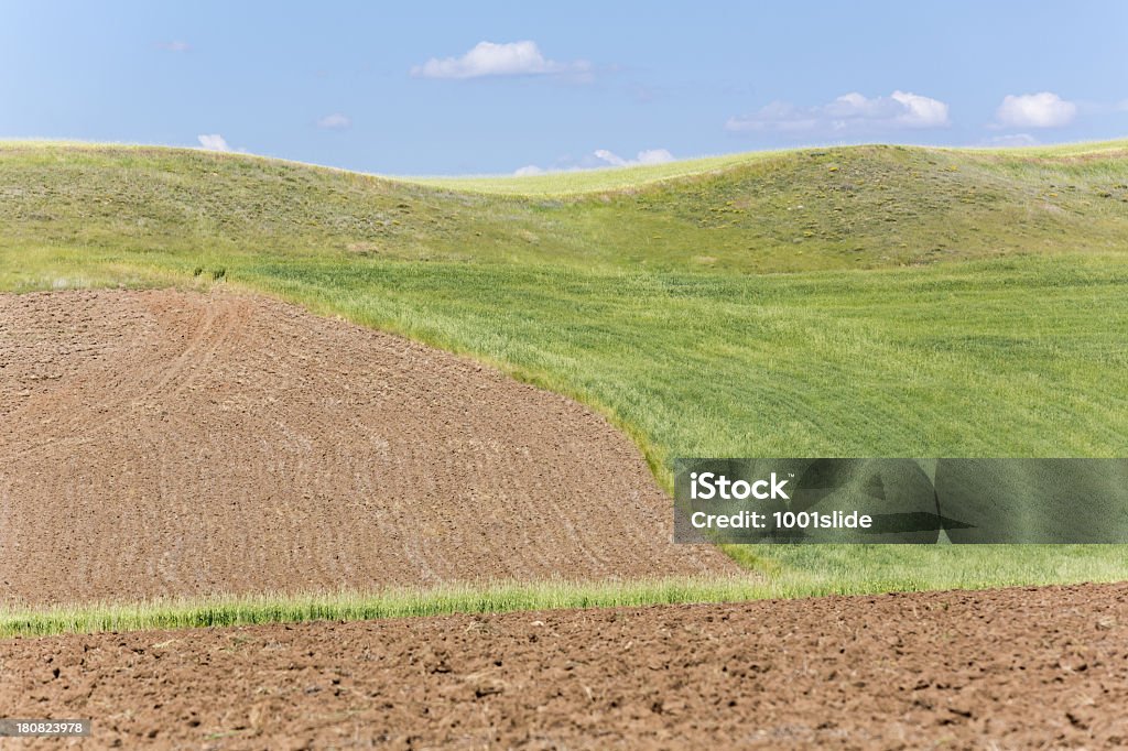
[[[315,620],[371,620],[698,602],[744,602],[999,586],[1122,581],[1116,546],[778,546],[770,558],[731,550],[758,575],[633,582],[540,582],[485,587],[398,589],[378,593],[219,597],[205,600],[0,609],[0,638],[158,630]],[[902,554],[910,551],[913,555]],[[1052,572],[1033,572],[1047,559]]]

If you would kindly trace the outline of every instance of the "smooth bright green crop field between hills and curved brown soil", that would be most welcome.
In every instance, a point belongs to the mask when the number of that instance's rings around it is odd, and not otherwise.
[[[0,286],[215,283],[157,253],[20,259]],[[1128,456],[1128,264],[1114,256],[726,279],[233,256],[222,268],[227,284],[582,401],[667,489],[678,456]]]

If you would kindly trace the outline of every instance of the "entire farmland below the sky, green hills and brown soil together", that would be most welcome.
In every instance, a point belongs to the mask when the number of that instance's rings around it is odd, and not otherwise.
[[[1114,745],[1123,547],[677,546],[668,492],[1128,456],[1126,176],[1123,141],[462,180],[0,144],[0,701],[97,745]]]

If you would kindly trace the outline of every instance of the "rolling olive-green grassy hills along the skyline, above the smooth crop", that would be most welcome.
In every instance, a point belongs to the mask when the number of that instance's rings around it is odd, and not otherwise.
[[[746,273],[1122,253],[1128,235],[1128,143],[857,147],[672,169],[538,177],[597,188],[545,197],[195,150],[0,144],[0,244]]]

